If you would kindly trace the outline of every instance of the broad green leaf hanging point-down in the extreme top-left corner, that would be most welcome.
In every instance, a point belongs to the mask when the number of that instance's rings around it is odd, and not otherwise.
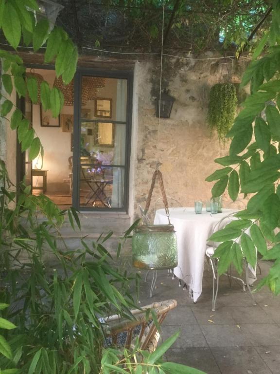
[[[11,1],[5,4],[2,29],[8,42],[14,49],[17,49],[21,35],[20,19]]]

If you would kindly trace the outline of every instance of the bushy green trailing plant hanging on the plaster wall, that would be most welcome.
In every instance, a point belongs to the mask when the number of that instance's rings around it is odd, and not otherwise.
[[[232,83],[218,83],[211,87],[208,107],[210,131],[216,130],[219,141],[225,143],[237,108],[236,89]]]

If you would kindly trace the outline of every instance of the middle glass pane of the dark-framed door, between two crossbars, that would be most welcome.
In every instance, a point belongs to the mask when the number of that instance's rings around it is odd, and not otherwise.
[[[125,124],[82,122],[80,156],[93,164],[124,165],[125,132]]]

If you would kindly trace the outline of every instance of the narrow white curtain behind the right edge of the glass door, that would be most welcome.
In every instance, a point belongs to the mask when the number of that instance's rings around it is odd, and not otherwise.
[[[117,103],[116,103],[116,121],[126,121],[126,97],[127,81],[118,79],[117,83]],[[115,124],[115,149],[114,165],[124,165],[125,161],[125,124]],[[124,169],[113,168],[113,193],[112,207],[123,207],[124,191]]]

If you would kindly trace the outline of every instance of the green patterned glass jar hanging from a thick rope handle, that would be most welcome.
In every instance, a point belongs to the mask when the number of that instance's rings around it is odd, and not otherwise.
[[[178,264],[177,239],[172,224],[140,225],[132,237],[133,266],[170,269]]]

